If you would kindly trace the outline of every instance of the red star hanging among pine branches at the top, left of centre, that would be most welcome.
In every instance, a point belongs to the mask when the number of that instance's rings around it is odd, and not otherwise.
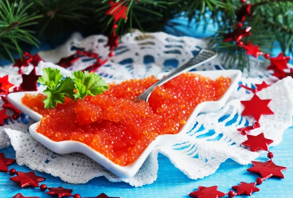
[[[110,8],[107,10],[106,15],[112,15],[114,18],[114,23],[116,23],[118,20],[126,19],[126,13],[127,13],[127,6],[122,5],[122,3],[119,1],[115,3],[114,1],[109,1]]]

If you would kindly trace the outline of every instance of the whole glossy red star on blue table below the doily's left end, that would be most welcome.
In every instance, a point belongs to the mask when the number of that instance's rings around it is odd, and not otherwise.
[[[45,178],[37,176],[34,171],[28,173],[18,171],[16,174],[17,176],[10,178],[10,180],[20,183],[21,188],[25,186],[39,187],[39,182],[45,180]]]

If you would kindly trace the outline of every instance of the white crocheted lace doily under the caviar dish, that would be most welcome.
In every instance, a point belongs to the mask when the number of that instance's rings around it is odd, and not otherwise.
[[[52,62],[56,63],[61,58],[74,54],[77,48],[92,50],[106,58],[109,53],[105,46],[106,41],[107,38],[102,35],[83,39],[79,34],[74,34],[63,46],[39,53],[42,59],[49,61],[41,61],[39,70],[45,66],[54,66]],[[108,82],[144,78],[171,71],[187,62],[200,48],[206,46],[205,40],[174,37],[165,33],[144,35],[134,32],[132,36],[126,34],[121,38],[119,47],[115,49],[115,56],[109,59],[98,73]],[[71,71],[83,69],[91,65],[93,61],[93,59],[83,58],[68,69]],[[265,69],[267,66],[265,62],[251,59],[250,77],[248,78],[248,72],[245,71],[241,83],[253,87],[253,84],[262,81],[267,83],[276,81],[277,79]],[[29,67],[28,71],[30,69]],[[214,59],[197,69],[224,68],[221,66],[220,59]],[[0,76],[6,74],[9,74],[9,80],[12,83],[17,85],[21,83],[17,68],[12,68],[11,65],[0,68]],[[68,75],[68,72],[63,72],[63,75]],[[283,131],[292,123],[292,89],[293,79],[286,78],[257,93],[261,99],[272,99],[270,108],[274,115],[263,116],[260,119],[261,127],[251,131],[250,134],[264,133],[266,138],[274,141],[270,146],[280,143]],[[139,172],[129,179],[115,176],[83,154],[59,155],[48,150],[27,133],[28,126],[33,121],[24,115],[17,120],[9,119],[1,127],[3,130],[0,132],[0,148],[12,145],[19,165],[26,165],[33,170],[60,177],[69,183],[86,183],[92,178],[105,176],[109,181],[124,181],[136,187],[150,184],[157,178],[158,153],[167,156],[188,178],[204,178],[214,173],[228,158],[239,164],[248,164],[261,154],[261,151],[251,152],[241,146],[246,137],[236,130],[254,122],[251,118],[241,117],[243,107],[240,100],[248,100],[251,97],[252,95],[246,90],[238,89],[220,111],[197,116],[196,124],[185,139],[171,147],[155,148]]]

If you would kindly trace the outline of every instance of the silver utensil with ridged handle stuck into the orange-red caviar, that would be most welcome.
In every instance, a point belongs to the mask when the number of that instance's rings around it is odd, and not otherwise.
[[[212,59],[216,58],[217,56],[218,56],[218,54],[214,51],[207,50],[207,49],[201,49],[195,57],[193,57],[187,63],[185,63],[181,67],[178,67],[173,72],[171,72],[170,74],[168,74],[164,78],[160,79],[159,81],[157,81],[153,85],[151,85],[149,88],[146,89],[146,91],[144,93],[139,95],[135,100],[136,101],[145,100],[147,102],[151,92],[156,88],[156,86],[161,86],[162,84],[169,81],[170,79],[173,79],[182,73],[188,72],[189,70],[191,70],[191,69],[193,69],[193,68],[195,68],[205,62],[208,62],[209,60],[212,60]]]

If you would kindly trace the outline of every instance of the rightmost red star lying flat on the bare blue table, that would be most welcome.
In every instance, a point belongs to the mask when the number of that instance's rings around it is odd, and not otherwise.
[[[252,173],[259,173],[262,178],[284,178],[282,171],[287,170],[286,167],[275,165],[272,160],[267,162],[251,161],[253,167],[247,169]]]

